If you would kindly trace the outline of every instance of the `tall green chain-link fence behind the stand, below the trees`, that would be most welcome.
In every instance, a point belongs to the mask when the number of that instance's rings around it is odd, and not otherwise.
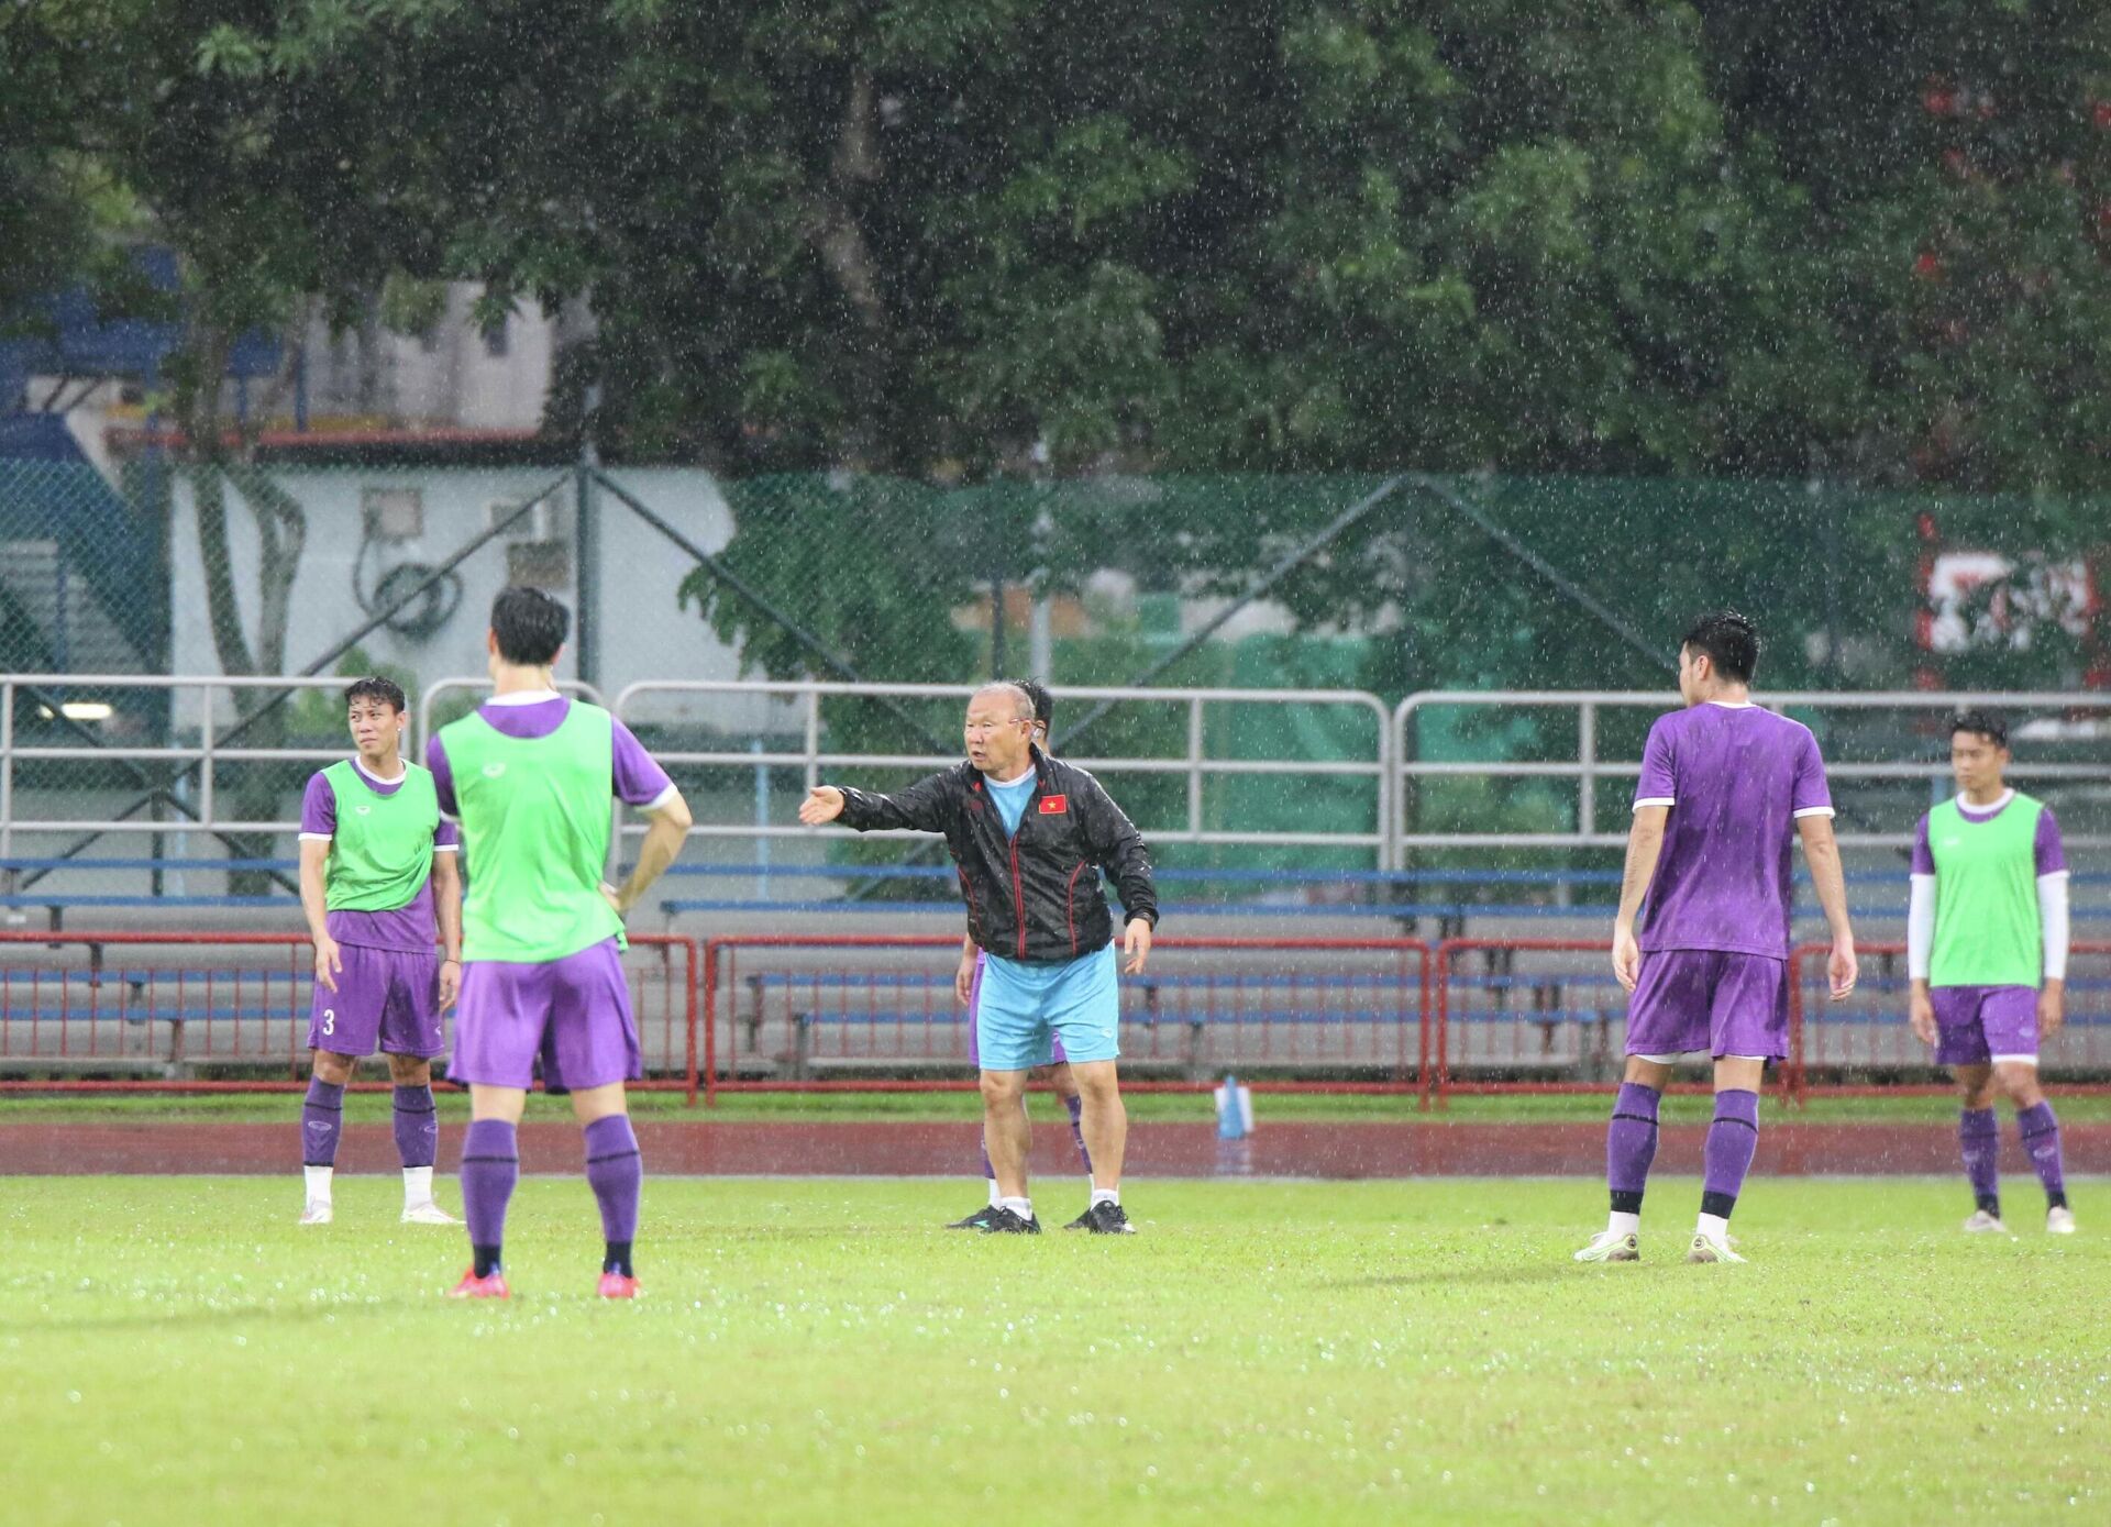
[[[1387,703],[1423,689],[1649,689],[1668,686],[1682,625],[1725,604],[1761,621],[1773,691],[2073,691],[2111,686],[2107,553],[2100,505],[1826,484],[1402,473],[939,486],[671,467],[207,471],[163,456],[106,477],[80,460],[8,458],[0,672],[384,672],[420,695],[481,672],[492,593],[536,583],[576,610],[562,676],[604,695],[669,678],[958,684],[1028,672],[1068,686],[1370,691]],[[17,686],[13,746],[51,754],[15,773],[17,815],[40,798],[57,822],[131,817],[179,832],[196,809],[192,758],[116,765],[95,750],[211,739],[220,788],[241,800],[222,819],[260,826],[194,847],[270,860],[285,843],[264,826],[291,819],[312,765],[241,754],[342,748],[327,686],[230,689],[211,718],[198,703],[196,691],[78,678]],[[640,727],[671,752],[771,754],[794,750],[787,737],[806,724],[796,710],[716,693]],[[1638,754],[1638,731],[1613,735],[1630,720],[1647,716],[1609,720],[1600,756]],[[2100,720],[2018,720],[2027,756],[2103,746]],[[1197,743],[1180,708],[1070,701],[1056,741],[1102,758],[1178,760],[1201,746],[1212,758],[1343,765],[1296,790],[1229,771],[1201,803],[1178,771],[1146,773],[1125,786],[1138,819],[1258,834],[1370,819],[1374,786],[1349,767],[1366,762],[1368,743],[1338,708],[1224,705],[1199,724]],[[834,752],[929,754],[952,750],[956,716],[952,701],[830,697],[821,727]],[[1936,741],[1879,739],[1889,754]],[[1533,760],[1573,756],[1575,739],[1516,712],[1465,712],[1425,727],[1414,748]],[[684,779],[711,811],[790,800],[802,784],[773,767]],[[1440,794],[1421,805],[1518,830],[1568,809],[1528,777],[1459,777]],[[46,834],[17,853],[70,853],[80,836]],[[901,847],[836,853],[899,860]],[[1205,843],[1174,860],[1364,864],[1334,849]],[[270,874],[243,887],[283,889]]]

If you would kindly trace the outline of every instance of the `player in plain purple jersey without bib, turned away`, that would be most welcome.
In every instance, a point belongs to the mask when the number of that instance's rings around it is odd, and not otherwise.
[[[1628,1069],[1604,1140],[1613,1214],[1577,1261],[1640,1259],[1657,1100],[1672,1064],[1697,1050],[1714,1056],[1716,1105],[1687,1261],[1744,1261],[1729,1244],[1729,1214],[1758,1145],[1761,1077],[1788,1054],[1799,836],[1832,929],[1832,1001],[1853,991],[1847,883],[1818,739],[1752,703],[1756,667],[1758,631],[1746,617],[1704,617],[1678,648],[1685,710],[1659,716],[1642,748],[1613,925],[1613,972],[1630,993]]]

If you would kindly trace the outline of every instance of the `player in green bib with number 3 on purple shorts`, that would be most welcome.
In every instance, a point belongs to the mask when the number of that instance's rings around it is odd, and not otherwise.
[[[355,758],[315,771],[300,798],[300,906],[315,944],[302,1225],[327,1225],[344,1088],[361,1056],[388,1058],[403,1157],[403,1223],[456,1225],[433,1202],[439,1117],[433,1056],[462,980],[462,876],[433,775],[403,760],[403,691],[361,678],[344,691]],[[443,950],[433,953],[433,923]]]

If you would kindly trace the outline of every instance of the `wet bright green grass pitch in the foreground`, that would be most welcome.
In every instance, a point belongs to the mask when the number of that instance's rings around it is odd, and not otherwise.
[[[1140,1236],[1026,1240],[937,1229],[958,1183],[648,1179],[635,1305],[581,1181],[521,1185],[509,1305],[388,1179],[321,1229],[291,1179],[0,1191],[8,1521],[2111,1514],[2088,1183],[1984,1240],[1953,1181],[1758,1179],[1752,1263],[1687,1267],[1672,1179],[1585,1269],[1581,1181],[1136,1183]]]

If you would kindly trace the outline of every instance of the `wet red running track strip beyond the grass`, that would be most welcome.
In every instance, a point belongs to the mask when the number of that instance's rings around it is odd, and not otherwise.
[[[1663,1130],[1657,1166],[1697,1174],[1706,1126]],[[13,1124],[0,1126],[0,1174],[63,1172],[291,1172],[296,1113],[285,1124]],[[439,1162],[452,1170],[460,1126],[443,1130]],[[975,1130],[967,1124],[667,1121],[638,1126],[646,1170],[676,1176],[973,1176]],[[572,1124],[521,1126],[521,1168],[578,1172]],[[2111,1172],[2111,1124],[2062,1128],[2069,1172]],[[2005,1128],[2003,1170],[2029,1174]],[[344,1132],[338,1166],[397,1170],[384,1124]],[[1077,1172],[1068,1130],[1034,1130],[1032,1170]],[[1129,1130],[1134,1176],[1598,1176],[1602,1124],[1269,1124],[1245,1140],[1218,1140],[1210,1124],[1138,1124]],[[1786,1176],[1955,1172],[1957,1134],[1938,1124],[1769,1124],[1758,1172]]]

